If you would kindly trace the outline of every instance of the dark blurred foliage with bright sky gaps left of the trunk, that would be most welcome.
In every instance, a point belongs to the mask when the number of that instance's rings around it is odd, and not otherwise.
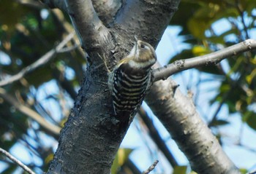
[[[66,25],[71,28],[67,20],[66,23],[61,22],[63,15],[60,11],[51,12],[39,2],[21,4],[4,0],[0,1],[0,11],[1,79],[17,74],[56,47],[57,41],[63,40],[69,33]],[[19,103],[37,111],[42,119],[62,126],[61,122],[67,119],[72,107],[75,90],[83,78],[84,63],[84,55],[78,49],[59,53],[45,66],[32,71],[18,82],[4,86],[4,90]],[[75,75],[67,76],[67,71]],[[46,101],[59,108],[59,114],[49,108]],[[53,158],[53,144],[49,145],[45,141],[49,141],[47,137],[50,137],[56,142],[56,135],[3,98],[0,98],[0,120],[1,148],[10,151],[15,146],[23,146],[30,153],[30,167],[39,173],[48,170],[50,159]],[[34,159],[42,159],[42,162],[33,162]],[[8,164],[3,173],[13,173],[17,169],[16,165],[3,157],[0,160]]]

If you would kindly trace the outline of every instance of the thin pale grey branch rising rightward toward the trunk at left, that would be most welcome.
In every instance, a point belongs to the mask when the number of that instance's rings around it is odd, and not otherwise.
[[[61,41],[61,43],[59,43],[59,45],[55,49],[52,49],[49,52],[47,52],[45,55],[39,58],[36,62],[32,63],[30,66],[23,68],[18,74],[15,74],[13,76],[10,76],[8,79],[4,79],[0,81],[0,87],[10,84],[12,82],[18,81],[19,79],[22,79],[23,76],[25,76],[29,72],[34,71],[40,66],[48,63],[48,61],[51,58],[53,58],[53,55],[55,55],[59,51],[62,51],[62,48],[67,44],[67,42],[69,42],[73,38],[74,35],[75,35],[75,32],[69,33],[69,35],[63,41]]]

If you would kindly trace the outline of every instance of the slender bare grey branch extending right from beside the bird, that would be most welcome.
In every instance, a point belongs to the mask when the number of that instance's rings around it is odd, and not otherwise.
[[[231,47],[219,50],[217,52],[212,52],[208,55],[198,56],[195,58],[189,58],[184,60],[176,60],[170,65],[164,66],[162,68],[157,68],[153,70],[154,82],[160,79],[167,79],[168,76],[176,74],[180,71],[184,71],[189,68],[196,68],[199,66],[216,65],[221,60],[229,58],[231,56],[238,55],[241,52],[246,52],[249,50],[256,49],[256,40],[247,39],[239,44],[235,44]]]

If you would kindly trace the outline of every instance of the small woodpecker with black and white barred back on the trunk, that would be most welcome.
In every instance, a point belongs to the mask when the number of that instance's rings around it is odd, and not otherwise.
[[[114,114],[129,116],[143,101],[151,84],[151,66],[157,61],[154,48],[136,41],[129,55],[109,74],[108,87],[113,97]]]

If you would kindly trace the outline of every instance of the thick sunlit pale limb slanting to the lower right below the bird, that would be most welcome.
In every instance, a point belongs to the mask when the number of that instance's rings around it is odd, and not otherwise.
[[[200,119],[192,99],[176,87],[172,79],[155,82],[146,103],[187,156],[192,169],[197,173],[240,173]]]

